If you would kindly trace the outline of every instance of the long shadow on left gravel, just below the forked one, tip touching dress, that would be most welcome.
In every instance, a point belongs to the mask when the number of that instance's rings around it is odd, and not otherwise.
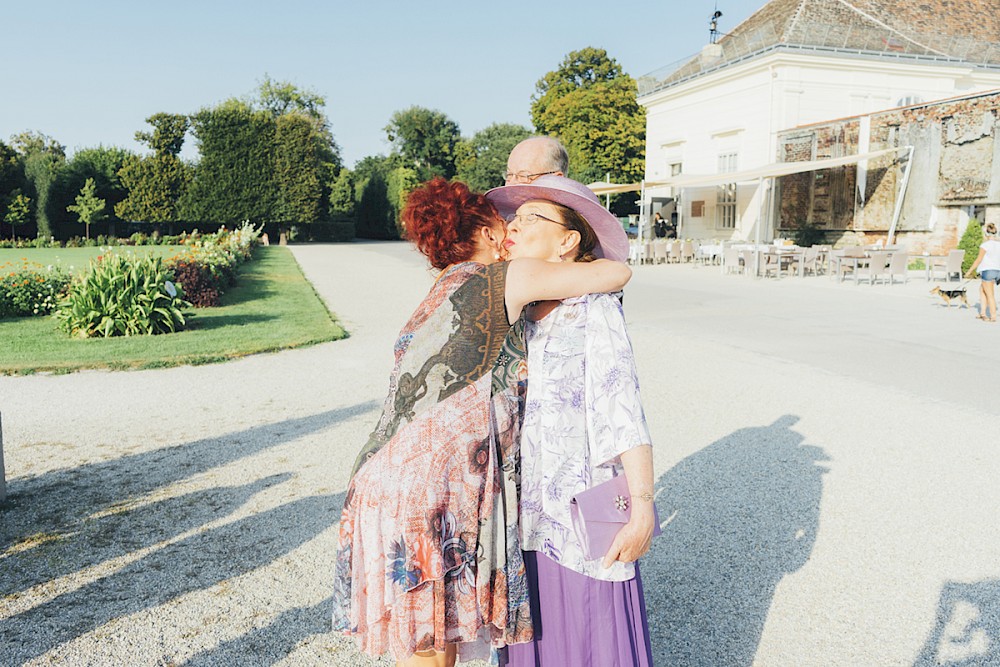
[[[264,567],[329,528],[343,502],[343,493],[309,496],[197,533],[17,614],[0,630],[5,664],[27,662],[116,618]],[[88,657],[108,665],[122,658]]]

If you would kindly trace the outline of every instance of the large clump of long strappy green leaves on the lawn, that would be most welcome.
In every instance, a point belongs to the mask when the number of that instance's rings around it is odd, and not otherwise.
[[[55,317],[73,336],[136,336],[184,328],[191,306],[160,257],[101,255],[70,284]]]

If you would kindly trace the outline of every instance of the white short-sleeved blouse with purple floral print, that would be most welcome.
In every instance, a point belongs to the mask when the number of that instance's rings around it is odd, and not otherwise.
[[[623,474],[622,452],[650,444],[621,302],[612,294],[566,299],[528,321],[524,337],[522,548],[595,579],[627,581],[632,563],[586,560],[570,518],[573,496]]]

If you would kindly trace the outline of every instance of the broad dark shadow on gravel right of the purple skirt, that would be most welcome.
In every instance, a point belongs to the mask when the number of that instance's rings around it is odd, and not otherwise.
[[[740,429],[657,481],[669,523],[641,563],[654,664],[753,663],[778,582],[816,540],[829,458],[796,422]]]

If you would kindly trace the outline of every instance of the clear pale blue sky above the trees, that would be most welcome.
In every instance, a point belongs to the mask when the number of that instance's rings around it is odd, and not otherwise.
[[[0,11],[0,139],[37,130],[68,150],[133,140],[154,113],[248,95],[265,73],[324,95],[345,163],[389,150],[411,105],[463,136],[531,127],[535,82],[570,51],[606,49],[633,77],[697,52],[765,0],[452,3],[383,0],[35,0]],[[183,155],[195,157],[193,140]]]

